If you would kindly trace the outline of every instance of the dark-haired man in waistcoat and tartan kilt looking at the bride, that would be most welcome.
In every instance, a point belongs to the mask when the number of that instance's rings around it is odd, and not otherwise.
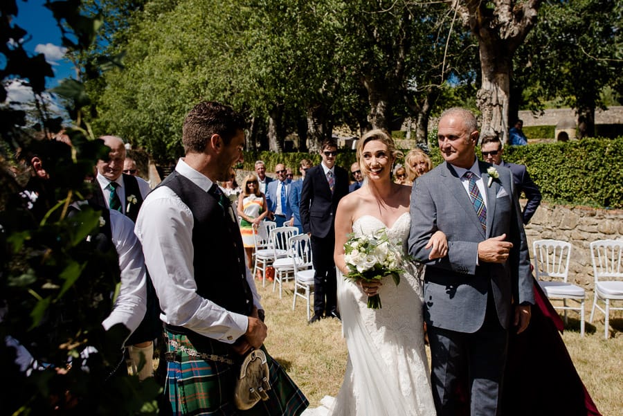
[[[300,415],[308,401],[263,347],[264,310],[244,260],[235,213],[217,186],[242,161],[244,120],[201,102],[186,116],[186,156],[150,195],[136,221],[165,323],[165,396],[174,415]],[[261,348],[268,399],[238,410],[240,363]],[[167,412],[165,412],[167,413]]]

